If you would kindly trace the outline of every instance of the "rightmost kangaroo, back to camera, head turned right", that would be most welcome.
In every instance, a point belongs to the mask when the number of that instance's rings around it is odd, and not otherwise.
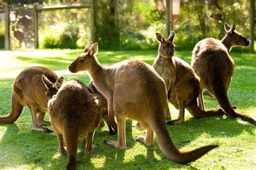
[[[241,114],[232,108],[228,101],[227,92],[230,87],[231,78],[234,72],[234,61],[230,56],[232,46],[248,46],[250,40],[235,31],[225,23],[225,37],[220,41],[214,38],[206,38],[197,43],[193,49],[191,66],[200,77],[199,106],[204,108],[203,88],[212,94],[221,108],[231,117],[240,117],[245,121],[255,124],[253,118]]]

